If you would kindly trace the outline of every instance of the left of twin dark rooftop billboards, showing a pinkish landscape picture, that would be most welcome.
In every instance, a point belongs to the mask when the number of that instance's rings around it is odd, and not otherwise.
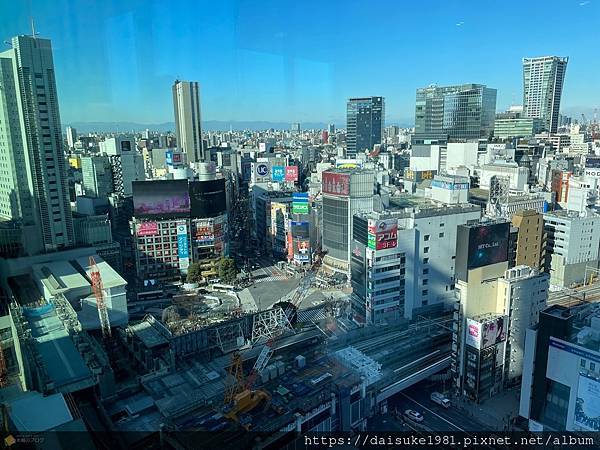
[[[136,217],[181,217],[190,213],[187,180],[133,182],[133,214]]]

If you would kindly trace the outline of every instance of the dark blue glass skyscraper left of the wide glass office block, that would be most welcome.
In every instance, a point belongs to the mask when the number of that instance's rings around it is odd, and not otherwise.
[[[383,141],[385,128],[383,97],[351,98],[346,105],[346,157],[372,150]]]

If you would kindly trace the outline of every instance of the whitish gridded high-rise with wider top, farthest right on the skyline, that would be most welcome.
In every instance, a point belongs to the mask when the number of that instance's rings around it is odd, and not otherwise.
[[[523,112],[526,117],[543,119],[550,133],[558,129],[568,61],[558,56],[523,58]]]

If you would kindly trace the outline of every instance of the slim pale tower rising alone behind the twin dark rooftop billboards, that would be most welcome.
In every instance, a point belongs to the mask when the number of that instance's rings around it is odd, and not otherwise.
[[[200,124],[200,88],[197,81],[173,84],[173,109],[177,146],[187,154],[190,163],[205,160]]]

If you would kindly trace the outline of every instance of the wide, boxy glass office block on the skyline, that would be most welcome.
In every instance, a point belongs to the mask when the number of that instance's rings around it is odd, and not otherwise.
[[[494,131],[496,89],[482,84],[417,89],[415,134],[487,139]]]

